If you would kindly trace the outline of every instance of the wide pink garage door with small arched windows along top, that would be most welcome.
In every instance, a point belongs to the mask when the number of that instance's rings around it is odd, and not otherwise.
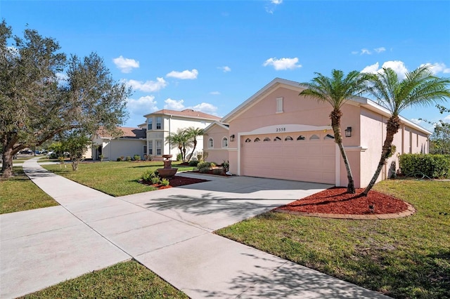
[[[326,132],[245,135],[240,174],[335,184],[335,142]]]

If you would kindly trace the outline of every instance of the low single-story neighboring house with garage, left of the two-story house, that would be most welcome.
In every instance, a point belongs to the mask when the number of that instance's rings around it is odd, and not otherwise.
[[[147,152],[146,130],[143,128],[119,127],[122,131],[120,137],[114,138],[108,131],[100,129],[92,136],[92,159],[116,161],[119,157],[134,157],[139,154],[141,159]]]

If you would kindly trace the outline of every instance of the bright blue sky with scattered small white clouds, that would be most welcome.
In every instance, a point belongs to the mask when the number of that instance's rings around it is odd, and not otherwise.
[[[160,109],[224,117],[276,77],[308,82],[316,72],[382,67],[404,77],[431,64],[448,78],[449,15],[448,0],[0,1],[13,34],[36,29],[64,53],[98,53],[134,90],[131,127]],[[401,115],[429,130],[418,119],[450,122],[434,105]]]

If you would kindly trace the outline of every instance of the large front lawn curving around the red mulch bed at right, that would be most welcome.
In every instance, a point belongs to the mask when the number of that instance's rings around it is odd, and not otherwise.
[[[450,182],[385,180],[374,189],[417,213],[333,220],[270,212],[217,234],[394,298],[450,298]]]

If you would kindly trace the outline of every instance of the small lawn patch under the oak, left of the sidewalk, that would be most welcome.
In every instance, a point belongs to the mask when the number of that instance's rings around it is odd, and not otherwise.
[[[22,166],[13,167],[14,176],[0,179],[0,214],[58,206],[49,195],[34,185]]]

